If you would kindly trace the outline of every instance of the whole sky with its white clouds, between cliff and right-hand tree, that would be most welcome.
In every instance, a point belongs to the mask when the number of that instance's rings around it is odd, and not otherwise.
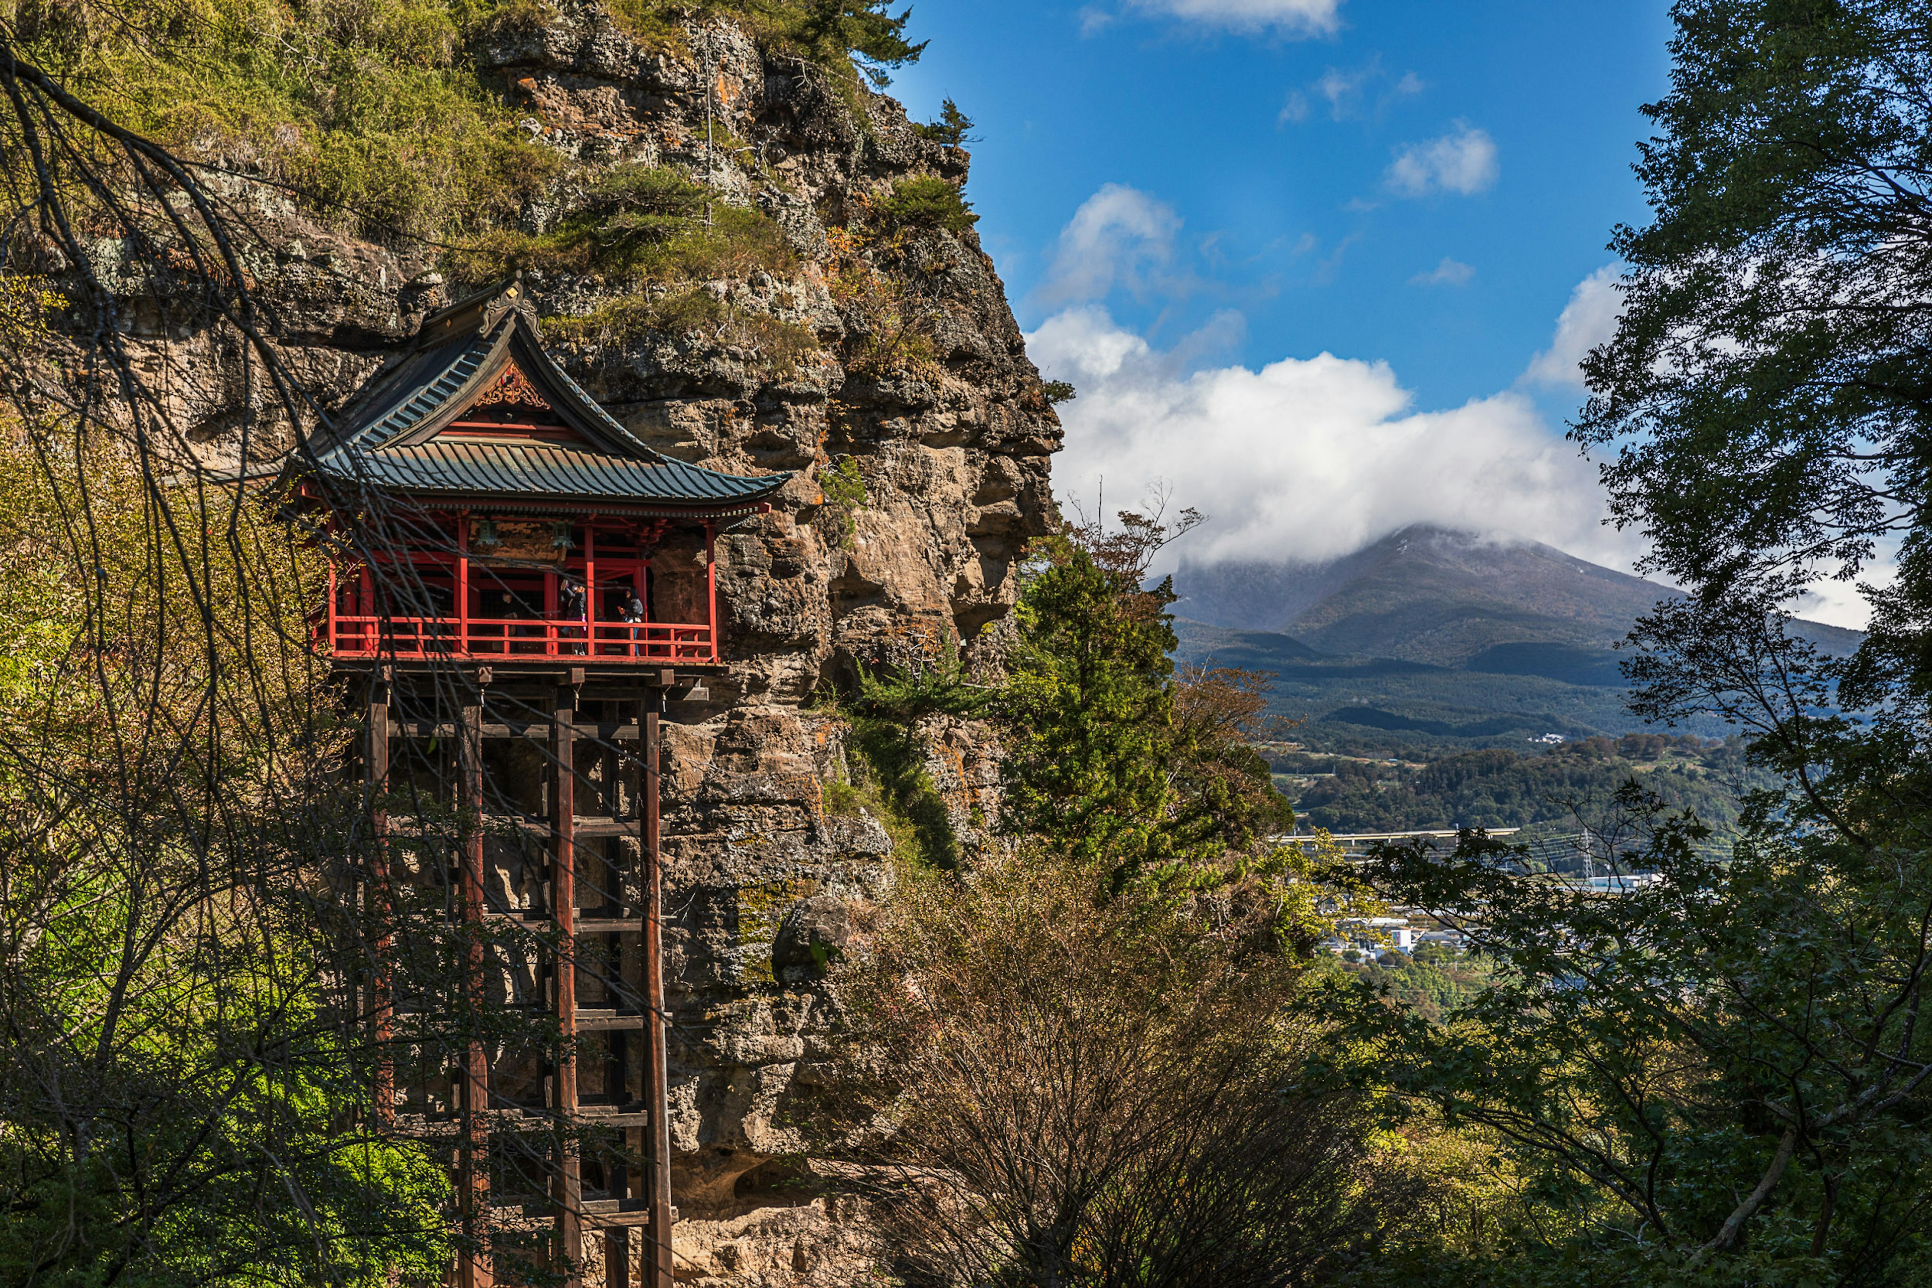
[[[978,122],[981,241],[1080,390],[1065,502],[1161,487],[1196,562],[1418,521],[1642,554],[1563,421],[1646,218],[1665,0],[922,0],[912,35],[891,93]],[[1859,624],[1839,597],[1806,614]]]

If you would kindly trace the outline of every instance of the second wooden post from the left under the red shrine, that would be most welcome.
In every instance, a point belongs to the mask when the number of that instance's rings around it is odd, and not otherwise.
[[[464,1137],[456,1201],[473,1240],[456,1269],[456,1288],[489,1288],[489,1052],[477,1033],[483,1014],[483,693],[464,705],[462,726],[462,900],[468,937],[466,979],[471,1035],[464,1052]]]

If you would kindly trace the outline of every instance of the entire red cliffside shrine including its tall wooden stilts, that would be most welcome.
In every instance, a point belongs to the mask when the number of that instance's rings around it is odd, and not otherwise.
[[[450,1282],[668,1288],[659,728],[723,670],[719,529],[790,475],[653,452],[516,282],[427,317],[298,471],[367,722],[352,1006],[377,1112],[450,1161]],[[427,942],[456,996],[404,983]]]

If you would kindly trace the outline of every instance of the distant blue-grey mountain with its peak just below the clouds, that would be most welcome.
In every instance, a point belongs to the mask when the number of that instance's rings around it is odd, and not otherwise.
[[[1364,753],[1642,730],[1611,645],[1679,595],[1546,545],[1435,527],[1327,564],[1184,564],[1175,589],[1184,660],[1271,672],[1296,738]],[[1816,622],[1799,633],[1830,653],[1861,639]]]

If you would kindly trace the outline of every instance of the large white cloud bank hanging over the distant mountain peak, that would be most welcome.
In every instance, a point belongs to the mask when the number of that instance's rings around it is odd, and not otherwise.
[[[1163,483],[1211,519],[1190,560],[1333,558],[1408,523],[1634,554],[1602,527],[1596,469],[1520,394],[1416,411],[1387,363],[1331,353],[1188,371],[1094,305],[1047,319],[1028,351],[1080,390],[1061,407],[1061,494],[1092,508],[1103,479],[1121,502]]]

